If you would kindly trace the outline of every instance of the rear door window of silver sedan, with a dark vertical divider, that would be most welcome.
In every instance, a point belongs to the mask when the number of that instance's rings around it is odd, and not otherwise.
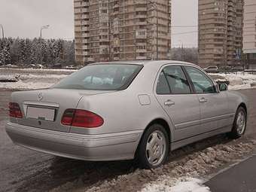
[[[160,73],[157,94],[190,94],[190,87],[181,66],[167,66]]]

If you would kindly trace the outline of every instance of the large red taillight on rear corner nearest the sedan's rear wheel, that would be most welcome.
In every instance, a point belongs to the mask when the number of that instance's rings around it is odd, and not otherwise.
[[[68,126],[78,126],[84,128],[95,128],[102,126],[104,120],[98,114],[81,109],[67,109],[61,123]]]

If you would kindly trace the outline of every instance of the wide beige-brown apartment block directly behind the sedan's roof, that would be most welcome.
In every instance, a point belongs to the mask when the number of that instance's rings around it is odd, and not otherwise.
[[[168,59],[170,0],[74,0],[75,59]]]

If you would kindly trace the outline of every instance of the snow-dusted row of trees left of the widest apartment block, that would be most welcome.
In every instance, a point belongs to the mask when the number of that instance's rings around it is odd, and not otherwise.
[[[37,64],[41,58],[40,39],[5,38],[0,39],[0,66],[4,64]],[[75,42],[62,39],[42,40],[42,61],[45,65],[75,62]]]

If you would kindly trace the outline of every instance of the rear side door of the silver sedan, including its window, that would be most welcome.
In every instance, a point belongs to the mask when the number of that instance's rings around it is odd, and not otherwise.
[[[181,66],[164,66],[158,75],[155,95],[175,127],[177,142],[200,133],[200,103]]]

